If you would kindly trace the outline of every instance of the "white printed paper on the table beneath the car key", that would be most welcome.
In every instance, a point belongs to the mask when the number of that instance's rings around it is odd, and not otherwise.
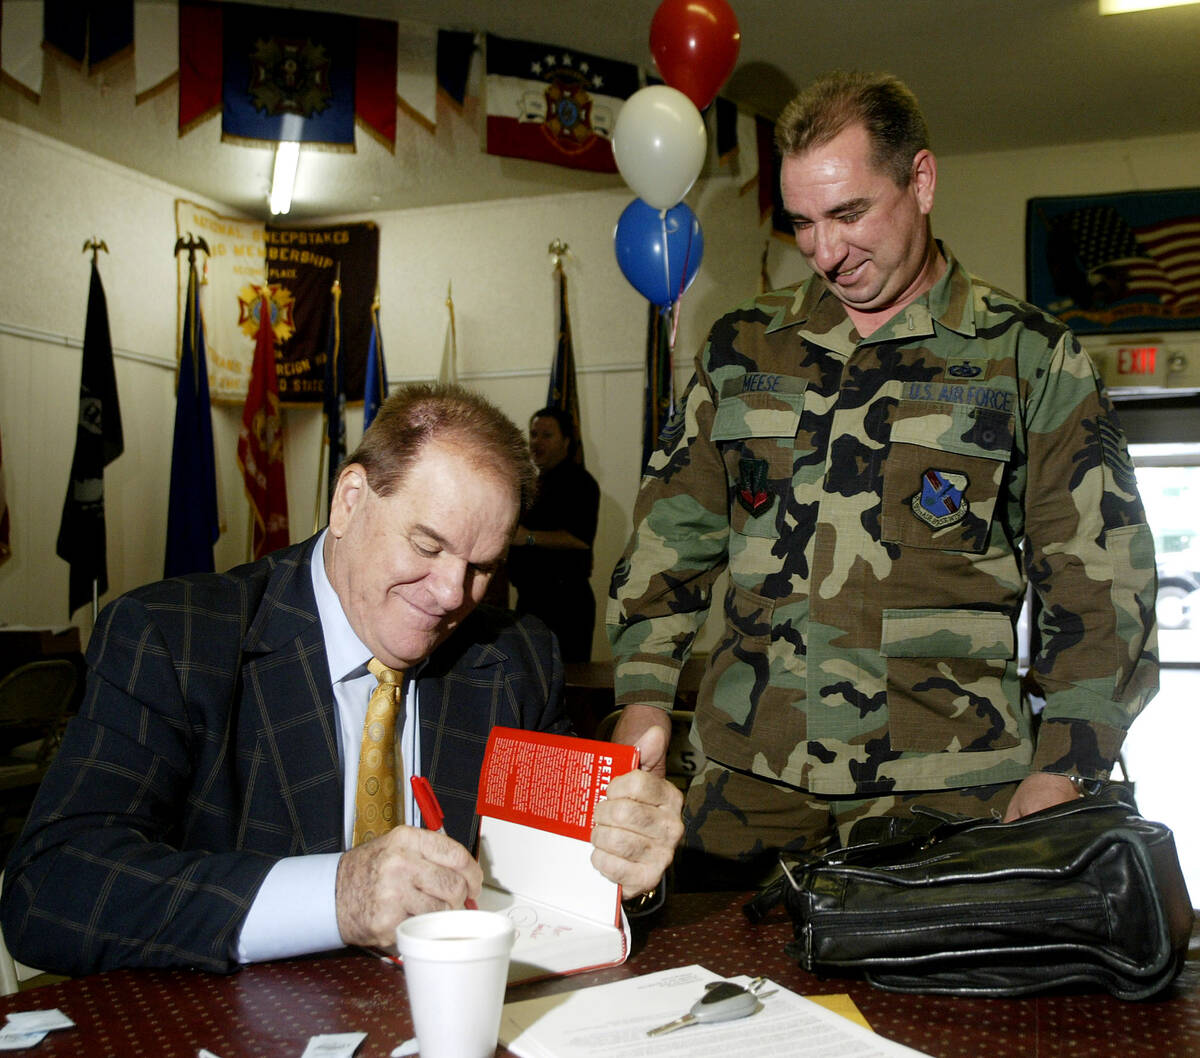
[[[655,1039],[646,1035],[686,1014],[704,994],[704,985],[719,980],[725,979],[702,966],[685,966],[509,1003],[500,1017],[500,1041],[521,1058],[775,1058],[796,1053],[799,1041],[811,1058],[922,1054],[775,984],[764,986],[778,991],[750,1017],[690,1026]],[[731,980],[744,985],[749,978]]]

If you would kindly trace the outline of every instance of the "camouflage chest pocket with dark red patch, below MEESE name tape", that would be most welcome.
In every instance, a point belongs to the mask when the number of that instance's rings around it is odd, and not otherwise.
[[[722,392],[713,417],[712,440],[725,461],[730,486],[730,527],[745,536],[779,535],[776,519],[792,494],[805,381],[782,381],[788,390]]]

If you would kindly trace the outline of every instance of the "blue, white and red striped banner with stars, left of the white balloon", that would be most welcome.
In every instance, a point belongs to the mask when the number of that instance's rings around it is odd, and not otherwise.
[[[636,66],[491,34],[486,58],[490,155],[617,172],[612,132]]]

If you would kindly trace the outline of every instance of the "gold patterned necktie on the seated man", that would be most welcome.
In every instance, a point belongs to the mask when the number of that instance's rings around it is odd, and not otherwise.
[[[404,673],[382,661],[367,662],[379,685],[371,692],[362,725],[359,782],[354,798],[354,844],[362,844],[404,822],[404,802],[397,795],[396,716],[404,704]]]

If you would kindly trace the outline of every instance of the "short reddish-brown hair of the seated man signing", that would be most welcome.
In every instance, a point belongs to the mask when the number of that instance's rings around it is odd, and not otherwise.
[[[533,498],[538,470],[524,434],[499,408],[460,385],[419,384],[396,390],[383,404],[359,446],[342,467],[360,463],[367,483],[391,495],[421,449],[431,441],[462,445],[512,483],[523,511]]]

